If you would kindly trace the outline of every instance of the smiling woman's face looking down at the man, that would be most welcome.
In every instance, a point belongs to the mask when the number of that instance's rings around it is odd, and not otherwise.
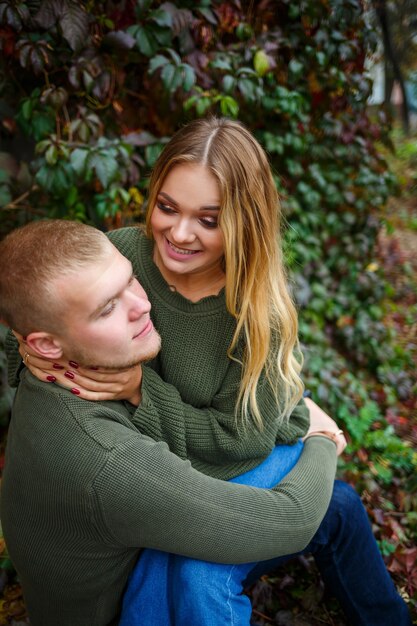
[[[224,252],[219,211],[219,185],[210,170],[176,165],[152,211],[156,259],[175,274],[218,274]]]

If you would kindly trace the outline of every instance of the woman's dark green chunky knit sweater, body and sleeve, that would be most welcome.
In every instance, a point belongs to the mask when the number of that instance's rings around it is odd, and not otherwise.
[[[135,424],[146,435],[166,441],[196,469],[228,479],[261,463],[276,443],[294,443],[308,429],[309,412],[301,401],[288,423],[280,424],[271,388],[261,380],[258,403],[264,428],[252,420],[243,428],[235,417],[241,365],[227,357],[235,320],[227,312],[224,290],[193,303],[170,290],[152,260],[153,242],[139,228],[109,233],[110,240],[133,265],[152,304],[152,319],[162,349],[150,366],[160,375],[151,395],[164,398],[170,411],[162,420],[139,411]],[[147,386],[147,368],[144,382]],[[164,381],[164,382],[163,382]]]

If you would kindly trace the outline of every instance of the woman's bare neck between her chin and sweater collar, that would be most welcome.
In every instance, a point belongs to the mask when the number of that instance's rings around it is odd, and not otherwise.
[[[217,296],[226,283],[226,277],[220,265],[189,274],[172,272],[162,263],[156,246],[153,261],[170,289],[177,291],[191,302],[198,302],[208,296]]]

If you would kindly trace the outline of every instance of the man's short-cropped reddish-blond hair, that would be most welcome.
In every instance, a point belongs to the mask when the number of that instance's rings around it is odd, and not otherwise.
[[[103,258],[111,245],[96,228],[69,220],[13,230],[0,242],[0,319],[22,335],[62,330],[54,281]]]

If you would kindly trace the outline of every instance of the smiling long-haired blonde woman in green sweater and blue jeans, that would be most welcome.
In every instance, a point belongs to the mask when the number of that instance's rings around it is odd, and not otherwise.
[[[262,487],[272,487],[297,462],[303,437],[330,438],[340,452],[343,434],[318,407],[309,428],[279,200],[253,135],[227,119],[196,120],[182,128],[155,166],[148,207],[146,235],[137,228],[109,235],[131,260],[162,337],[161,353],[143,368],[142,403],[151,404],[147,392],[156,392],[156,372],[165,382],[172,420],[162,423],[150,408],[133,417],[138,428],[166,440],[200,471],[221,479],[243,474],[237,480]],[[41,365],[32,357],[30,363],[32,369]],[[45,376],[45,368],[33,371]],[[54,372],[59,382],[70,379],[68,386],[89,399],[129,398],[137,385],[133,370],[122,382],[100,371],[60,371]],[[410,623],[360,500],[346,485],[335,483],[307,550],[352,623]],[[248,625],[245,582],[282,560],[217,566],[145,551],[126,593],[121,625]],[[364,569],[367,584],[358,589]]]

